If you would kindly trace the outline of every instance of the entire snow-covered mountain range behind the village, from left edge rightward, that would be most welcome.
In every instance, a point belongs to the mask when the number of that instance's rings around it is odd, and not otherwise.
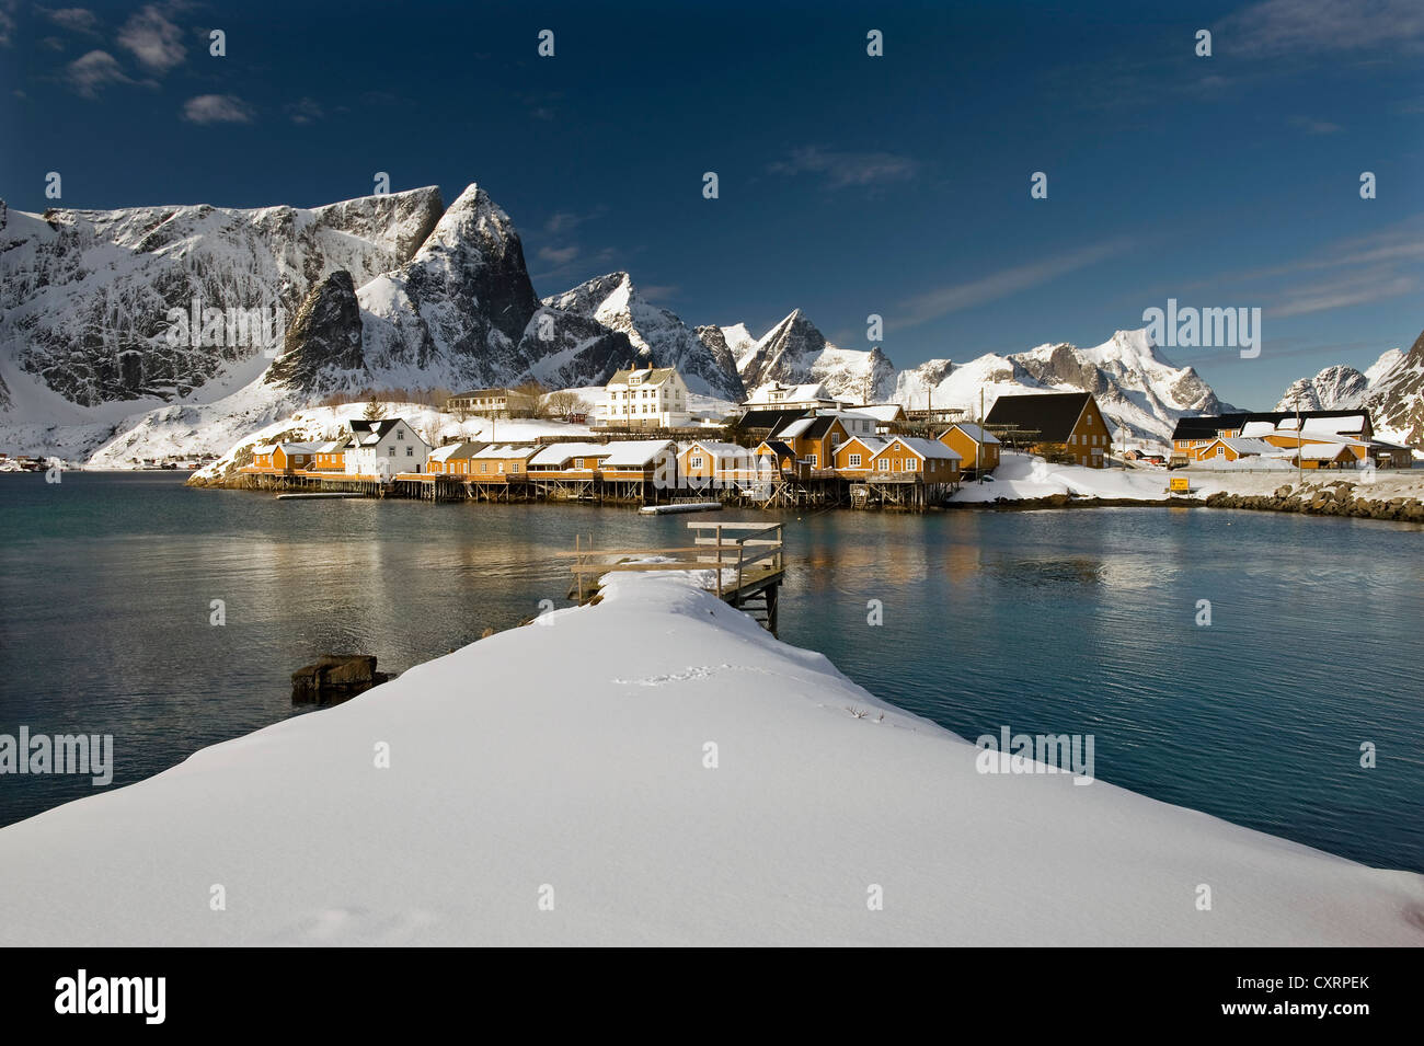
[[[591,387],[638,357],[719,401],[775,380],[975,414],[981,390],[988,408],[1005,391],[1085,389],[1159,440],[1182,414],[1225,407],[1143,332],[897,373],[880,349],[832,344],[799,309],[760,337],[742,323],[689,329],[625,272],[541,300],[513,221],[477,185],[447,209],[427,188],[313,209],[9,211],[0,276],[0,448],[105,464],[222,453],[330,393]],[[232,343],[231,320],[175,340],[172,310],[194,302],[271,307],[278,343]],[[1396,356],[1377,366],[1401,389],[1414,374],[1417,390],[1424,350]]]

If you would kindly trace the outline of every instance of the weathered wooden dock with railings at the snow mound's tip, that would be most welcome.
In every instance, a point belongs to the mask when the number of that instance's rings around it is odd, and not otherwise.
[[[592,539],[575,539],[574,591],[571,598],[587,603],[598,595],[605,574],[634,571],[685,571],[699,575],[702,588],[776,632],[780,586],[786,578],[782,544],[783,524],[702,522],[688,524],[692,544],[682,548],[594,548]]]

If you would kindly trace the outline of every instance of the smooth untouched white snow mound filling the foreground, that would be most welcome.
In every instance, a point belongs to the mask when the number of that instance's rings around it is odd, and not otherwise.
[[[0,830],[0,944],[1424,941],[1418,875],[980,774],[675,578],[548,620]]]

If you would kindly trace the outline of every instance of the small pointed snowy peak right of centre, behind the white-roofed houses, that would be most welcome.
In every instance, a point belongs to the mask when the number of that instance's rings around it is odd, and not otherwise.
[[[894,364],[879,347],[869,352],[840,349],[827,342],[800,309],[752,344],[740,337],[746,332],[742,324],[722,330],[723,334],[733,332],[740,344],[736,369],[749,391],[768,381],[819,383],[832,396],[873,403],[894,389]],[[728,344],[731,347],[731,340]]]

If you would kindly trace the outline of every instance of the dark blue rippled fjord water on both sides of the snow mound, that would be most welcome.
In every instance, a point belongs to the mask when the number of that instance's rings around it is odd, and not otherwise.
[[[4,475],[0,507],[0,733],[112,734],[112,787],[302,712],[289,675],[316,655],[404,670],[567,605],[575,534],[656,546],[686,525],[276,501],[154,472]],[[1424,871],[1424,528],[1162,508],[782,518],[782,638],[880,697],[971,740],[1092,734],[1101,780]],[[0,824],[93,791],[0,776]]]

